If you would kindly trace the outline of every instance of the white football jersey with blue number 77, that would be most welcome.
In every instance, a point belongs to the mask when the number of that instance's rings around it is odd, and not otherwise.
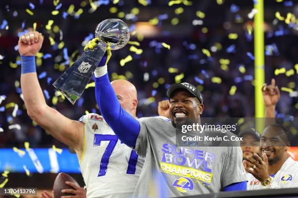
[[[87,114],[80,161],[87,198],[130,198],[144,159],[118,139],[102,116]]]

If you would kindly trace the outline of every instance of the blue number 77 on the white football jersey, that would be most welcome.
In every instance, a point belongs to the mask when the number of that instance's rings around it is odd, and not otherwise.
[[[102,134],[94,134],[94,143],[93,146],[100,146],[101,141],[110,141],[104,154],[102,155],[98,177],[104,176],[107,173],[107,168],[109,164],[110,156],[117,144],[118,137],[116,135],[102,135]],[[127,174],[134,174],[136,169],[136,164],[138,161],[138,154],[131,150],[130,159],[127,167]]]

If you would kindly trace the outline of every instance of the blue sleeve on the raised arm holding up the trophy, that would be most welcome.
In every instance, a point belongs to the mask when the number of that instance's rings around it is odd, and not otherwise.
[[[95,98],[102,116],[122,142],[135,148],[140,123],[121,107],[108,73],[99,78],[94,77],[94,79]]]

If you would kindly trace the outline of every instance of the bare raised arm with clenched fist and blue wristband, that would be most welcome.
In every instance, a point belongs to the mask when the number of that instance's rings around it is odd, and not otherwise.
[[[28,115],[42,128],[64,144],[81,151],[84,124],[71,120],[46,104],[38,83],[35,55],[41,48],[41,33],[29,32],[19,38],[21,55],[21,88]]]

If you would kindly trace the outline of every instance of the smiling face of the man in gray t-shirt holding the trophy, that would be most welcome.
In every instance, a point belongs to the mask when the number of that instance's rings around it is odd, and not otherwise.
[[[204,105],[200,100],[184,89],[178,89],[170,98],[170,119],[174,127],[177,122],[186,121],[187,118],[200,117]]]

